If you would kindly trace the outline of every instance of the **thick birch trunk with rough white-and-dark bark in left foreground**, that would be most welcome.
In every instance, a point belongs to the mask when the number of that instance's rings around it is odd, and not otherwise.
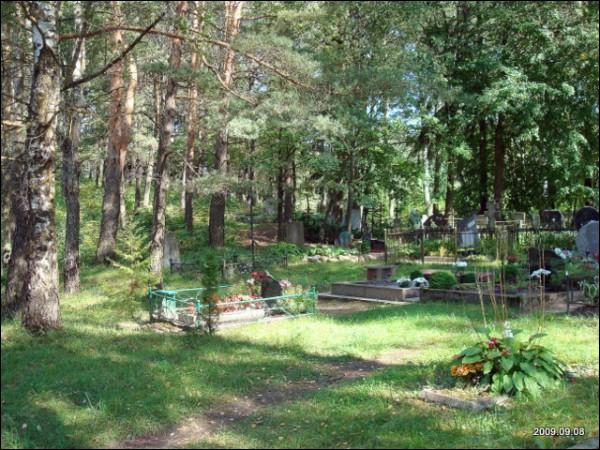
[[[32,2],[34,66],[27,120],[27,275],[23,325],[30,331],[60,326],[54,202],[56,117],[60,67],[56,32],[58,2]]]

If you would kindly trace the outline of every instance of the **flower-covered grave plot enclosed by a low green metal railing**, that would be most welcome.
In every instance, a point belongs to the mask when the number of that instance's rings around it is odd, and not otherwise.
[[[150,320],[169,322],[186,329],[203,328],[202,312],[206,306],[202,297],[205,291],[205,288],[150,289]],[[263,288],[263,293],[257,295],[241,293],[239,286],[219,286],[217,292],[220,327],[266,319],[299,317],[313,314],[316,310],[317,292],[314,288],[291,294],[283,294],[281,288],[276,291]]]

